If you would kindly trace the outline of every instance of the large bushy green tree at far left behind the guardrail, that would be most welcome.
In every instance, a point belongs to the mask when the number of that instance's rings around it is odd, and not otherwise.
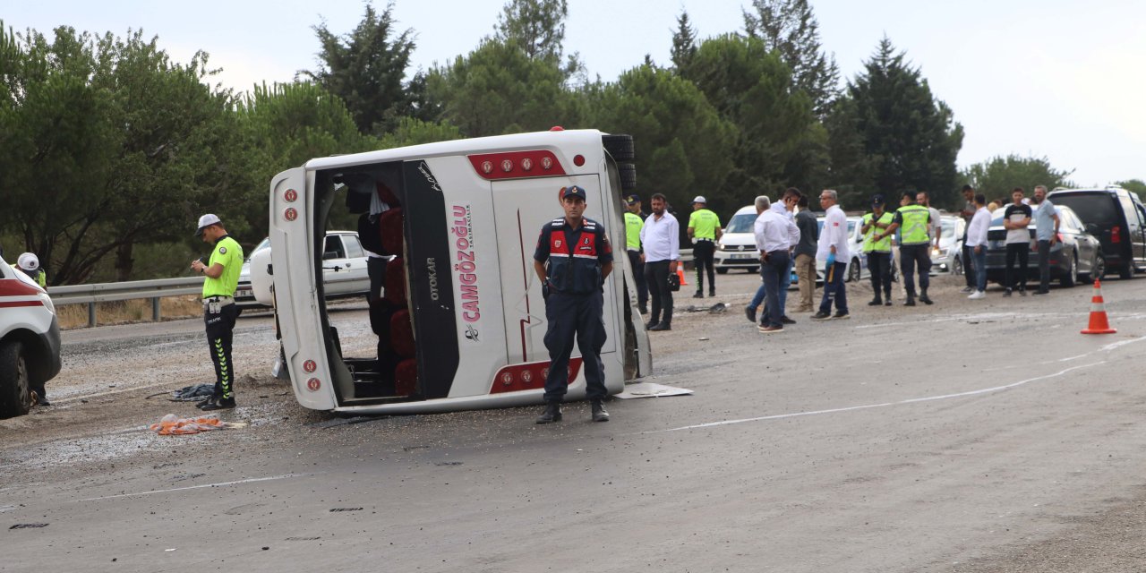
[[[111,253],[129,277],[133,245],[182,235],[226,194],[229,95],[202,83],[205,56],[171,63],[140,32],[0,37],[0,217],[53,284],[87,280]]]

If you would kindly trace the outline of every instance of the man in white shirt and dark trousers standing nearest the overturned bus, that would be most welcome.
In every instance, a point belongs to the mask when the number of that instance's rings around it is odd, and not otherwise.
[[[675,217],[665,211],[667,206],[664,195],[653,194],[652,214],[641,228],[645,282],[652,298],[649,330],[673,330],[673,291],[668,286],[668,277],[676,275],[676,265],[681,259],[681,226]]]

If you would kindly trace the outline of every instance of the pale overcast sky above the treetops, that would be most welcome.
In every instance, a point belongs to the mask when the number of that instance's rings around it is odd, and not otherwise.
[[[314,69],[312,26],[336,33],[362,18],[360,0],[10,1],[5,26],[58,25],[125,36],[142,29],[186,62],[197,50],[241,91]],[[701,38],[743,29],[748,0],[570,0],[565,50],[590,77],[613,80],[645,54],[669,61],[676,16]],[[414,29],[415,68],[468,54],[493,31],[502,0],[395,0]],[[824,48],[843,78],[884,34],[923,71],[966,129],[959,166],[997,155],[1047,157],[1078,185],[1146,179],[1146,0],[811,0]],[[375,2],[378,10],[385,3]],[[639,143],[638,143],[639,144]]]

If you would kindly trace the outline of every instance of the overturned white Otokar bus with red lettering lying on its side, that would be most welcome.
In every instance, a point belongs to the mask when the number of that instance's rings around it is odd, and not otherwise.
[[[272,249],[251,264],[256,296],[275,306],[277,374],[289,375],[299,403],[317,410],[540,403],[549,353],[533,270],[537,237],[563,213],[558,190],[576,185],[588,195],[586,217],[623,245],[633,158],[628,135],[554,128],[317,158],[280,173],[270,183]],[[320,278],[328,213],[340,201],[361,212],[359,236],[375,244],[383,256],[375,264],[385,268],[367,330],[377,352],[363,356],[343,353]],[[652,369],[634,285],[628,258],[617,257],[604,282],[601,358],[610,393]],[[579,351],[568,384],[568,400],[584,397]]]

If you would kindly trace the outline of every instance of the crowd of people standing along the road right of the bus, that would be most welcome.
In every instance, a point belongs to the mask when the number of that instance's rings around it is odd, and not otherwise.
[[[963,292],[976,300],[986,298],[988,229],[992,209],[982,194],[971,186],[964,186],[965,204],[959,217],[964,227],[961,260],[966,286]],[[758,322],[761,332],[782,332],[785,324],[795,320],[787,313],[787,291],[793,270],[799,284],[799,304],[794,313],[814,313],[811,320],[845,320],[850,317],[848,292],[845,277],[848,261],[853,260],[847,215],[840,209],[839,195],[832,189],[819,194],[824,210],[823,227],[817,215],[809,209],[808,196],[799,189],[788,188],[778,201],[767,196],[755,198],[756,220],[753,233],[760,257],[761,285],[745,307],[745,316]],[[670,330],[673,317],[674,278],[680,262],[678,223],[667,203],[658,194],[652,199],[652,214],[642,211],[641,198],[629,195],[626,199],[626,249],[636,275],[637,304],[642,314],[649,312],[652,300],[649,330]],[[1037,186],[1034,197],[1027,198],[1022,188],[1011,194],[1011,203],[996,206],[1004,210],[1003,226],[1006,229],[1006,268],[1003,296],[1014,291],[1027,295],[1026,277],[1029,254],[1033,250],[1030,227],[1035,229],[1037,244],[1038,289],[1035,295],[1050,292],[1050,251],[1058,241],[1059,218],[1054,206],[1046,199],[1046,187]],[[650,219],[651,218],[651,219]],[[651,222],[650,222],[651,221]],[[705,284],[708,296],[716,292],[713,253],[722,235],[720,218],[707,209],[702,196],[693,199],[693,211],[689,218],[688,236],[693,243],[697,291],[694,298],[704,298]],[[917,301],[933,305],[928,296],[931,286],[932,250],[939,248],[942,225],[940,212],[931,205],[925,191],[904,191],[898,206],[890,209],[884,195],[871,198],[870,210],[862,217],[861,249],[868,260],[873,291],[869,306],[892,306],[892,282],[894,269],[902,276],[904,306],[916,306]],[[824,286],[818,305],[815,305],[817,260],[824,260]],[[707,277],[707,283],[705,278]]]

